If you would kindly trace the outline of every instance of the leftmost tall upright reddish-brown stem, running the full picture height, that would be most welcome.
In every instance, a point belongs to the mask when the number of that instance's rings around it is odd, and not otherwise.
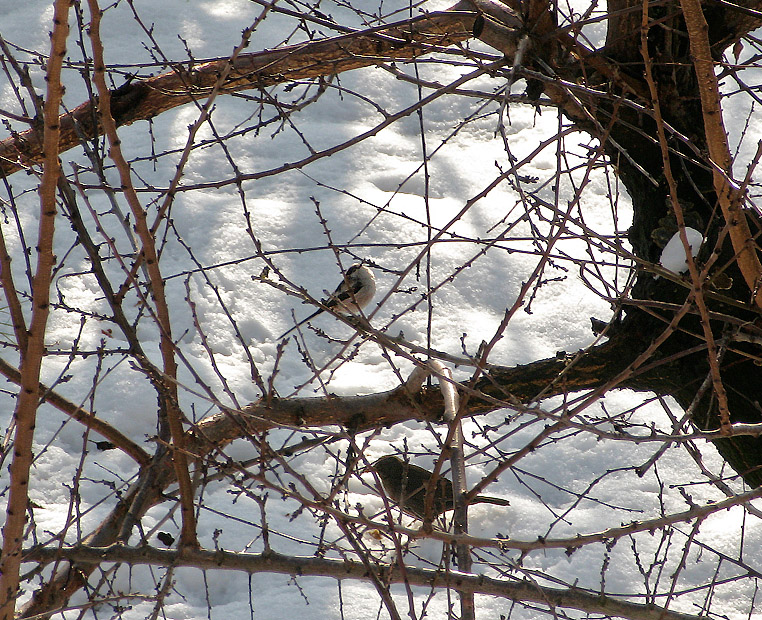
[[[45,331],[50,313],[50,283],[55,263],[53,234],[56,219],[56,187],[60,174],[58,161],[59,122],[63,88],[61,67],[69,35],[69,0],[56,0],[53,32],[45,79],[47,96],[43,108],[43,172],[40,182],[40,223],[37,239],[37,269],[32,281],[32,319],[26,348],[21,350],[21,390],[16,402],[13,460],[10,466],[10,491],[3,526],[0,558],[0,619],[11,620],[16,607],[21,565],[21,545],[29,501],[29,468],[32,441],[39,404],[40,369],[45,355]]]

